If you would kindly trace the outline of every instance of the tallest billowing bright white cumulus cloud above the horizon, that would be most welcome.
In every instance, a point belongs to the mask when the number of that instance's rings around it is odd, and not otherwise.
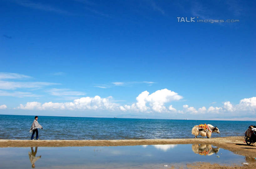
[[[175,93],[168,89],[158,90],[152,94],[149,94],[148,91],[144,91],[138,95],[138,97],[136,98],[136,103],[133,103],[131,106],[125,105],[124,108],[126,110],[134,110],[140,112],[153,110],[155,112],[161,113],[164,111],[168,111],[168,109],[164,106],[165,103],[177,101],[182,98],[183,97],[178,95],[178,93]],[[171,110],[174,110],[172,106]]]

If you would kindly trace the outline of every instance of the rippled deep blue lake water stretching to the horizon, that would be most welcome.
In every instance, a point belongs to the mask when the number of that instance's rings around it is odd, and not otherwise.
[[[29,129],[34,116],[0,115],[0,139],[30,139]],[[212,124],[220,130],[220,135],[212,137],[243,136],[249,125],[256,121],[220,120],[159,120],[120,119],[90,117],[39,116],[40,139],[49,140],[113,140],[113,139],[157,139],[194,138],[194,125]],[[200,137],[200,136],[198,136]]]

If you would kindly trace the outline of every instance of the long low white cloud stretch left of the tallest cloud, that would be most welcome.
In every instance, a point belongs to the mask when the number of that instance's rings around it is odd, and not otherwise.
[[[40,103],[40,102],[27,102],[25,105],[20,104],[17,109],[24,110],[119,110],[119,105],[111,102],[112,97],[101,98],[95,97],[82,97],[75,99],[73,102],[65,103]]]

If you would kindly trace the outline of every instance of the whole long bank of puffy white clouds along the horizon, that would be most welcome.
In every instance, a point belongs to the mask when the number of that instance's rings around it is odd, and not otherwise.
[[[15,109],[23,110],[109,110],[109,111],[128,111],[128,112],[144,112],[144,113],[180,113],[180,114],[228,114],[238,115],[241,112],[246,112],[248,115],[254,115],[256,112],[256,97],[244,98],[240,100],[238,105],[233,105],[229,101],[223,102],[222,107],[210,106],[208,109],[203,106],[201,108],[194,108],[193,106],[183,105],[183,110],[176,110],[170,105],[168,108],[165,106],[167,103],[172,101],[178,101],[183,99],[182,96],[178,95],[168,89],[158,90],[149,94],[148,91],[141,92],[137,98],[136,103],[132,105],[120,105],[114,103],[113,97],[101,98],[100,96],[95,97],[82,97],[75,99],[73,102],[65,103],[53,103],[53,102],[27,102],[25,105],[20,104]],[[6,108],[5,105],[2,105]],[[0,106],[1,107],[1,106]]]

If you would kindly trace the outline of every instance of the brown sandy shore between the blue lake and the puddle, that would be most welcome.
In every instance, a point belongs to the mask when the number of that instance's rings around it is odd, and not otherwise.
[[[243,137],[143,139],[143,140],[0,140],[0,147],[75,147],[75,146],[133,146],[155,144],[212,144],[246,157],[244,166],[219,166],[218,164],[188,164],[188,168],[255,168],[256,146],[248,146]]]

